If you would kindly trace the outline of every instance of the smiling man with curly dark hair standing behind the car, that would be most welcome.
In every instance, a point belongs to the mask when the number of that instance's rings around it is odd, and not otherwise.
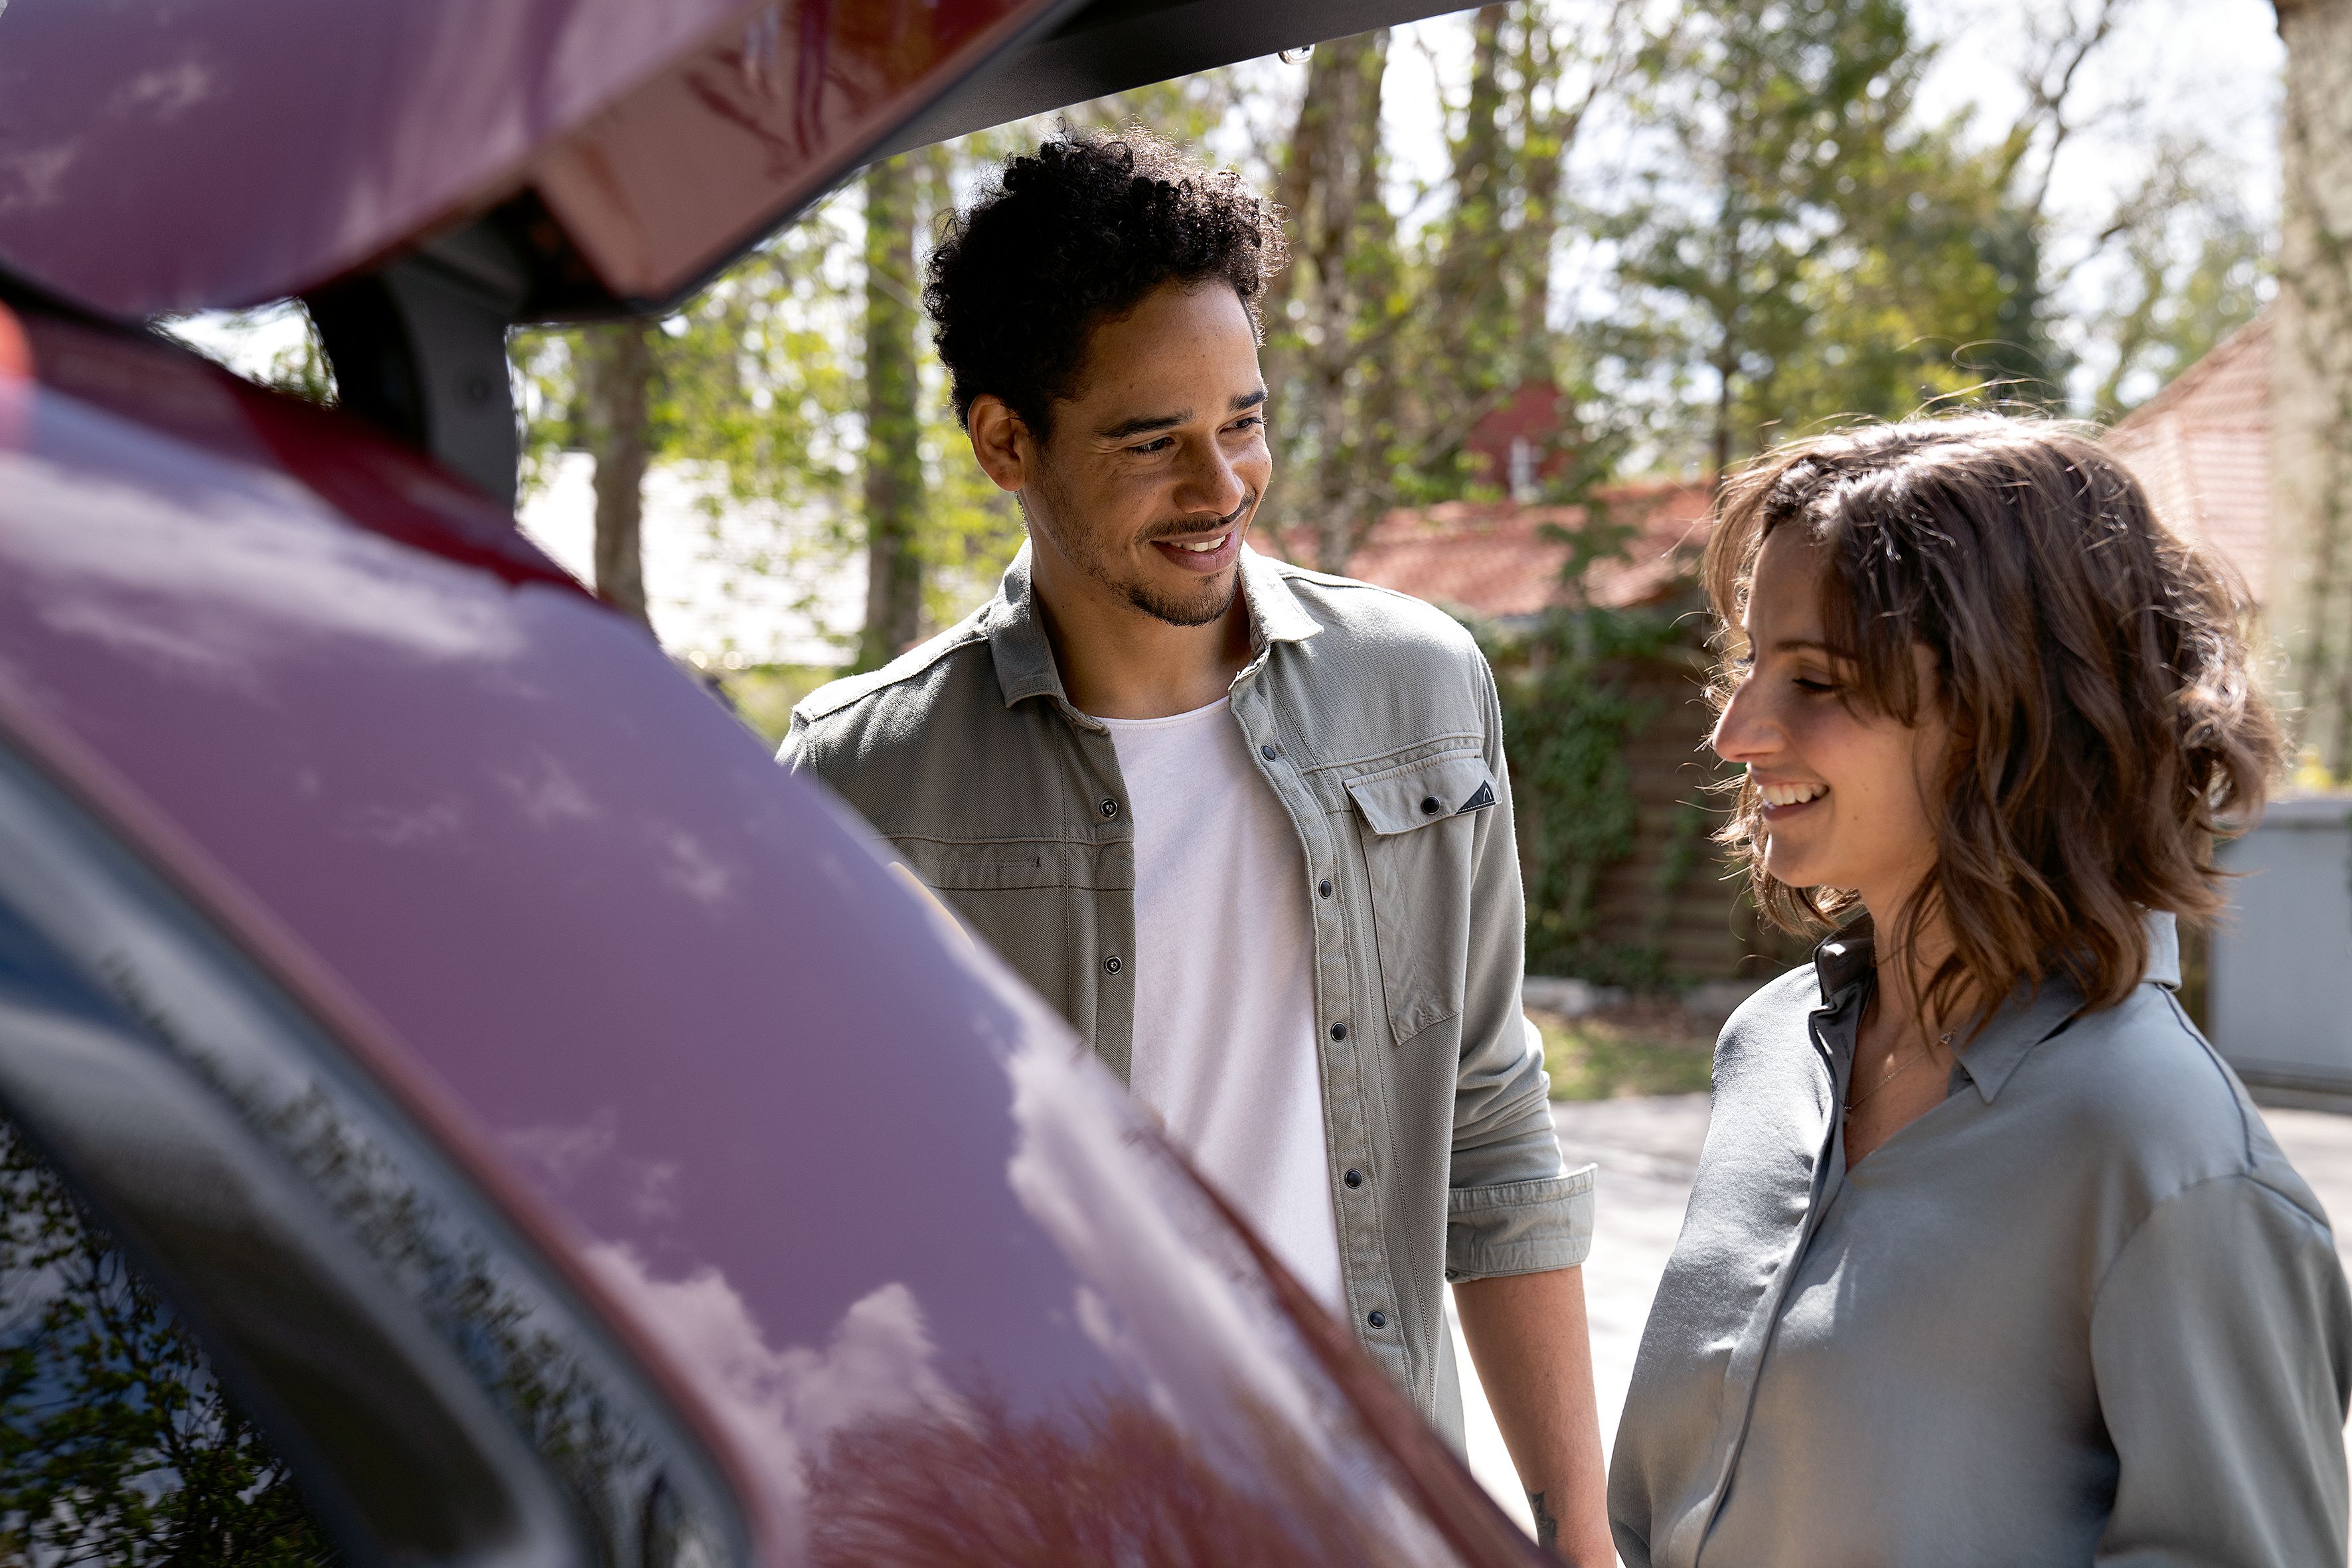
[[[1519,1013],[1494,677],[1435,609],[1244,541],[1279,219],[1141,132],[1016,158],[924,303],[1028,545],[793,710],[840,790],[1461,1448],[1442,1281],[1538,1533],[1613,1561],[1578,1265]]]

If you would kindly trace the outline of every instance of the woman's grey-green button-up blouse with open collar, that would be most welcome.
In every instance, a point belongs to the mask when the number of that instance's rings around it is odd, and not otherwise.
[[[1846,1171],[1870,938],[1715,1046],[1609,1474],[1628,1568],[2345,1561],[2352,1295],[2180,1004],[2020,992]]]

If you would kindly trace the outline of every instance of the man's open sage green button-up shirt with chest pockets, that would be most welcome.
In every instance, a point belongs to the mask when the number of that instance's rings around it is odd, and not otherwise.
[[[1303,849],[1331,1201],[1357,1340],[1461,1446],[1442,1281],[1583,1262],[1519,1011],[1524,910],[1494,675],[1404,595],[1242,552],[1230,712]],[[1127,1079],[1136,865],[1110,731],[1070,705],[1028,550],[995,599],[793,710],[823,778]]]

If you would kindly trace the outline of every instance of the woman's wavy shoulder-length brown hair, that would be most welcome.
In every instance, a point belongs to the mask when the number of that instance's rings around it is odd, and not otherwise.
[[[2216,837],[2260,811],[2284,750],[2223,574],[2074,428],[1842,430],[1769,451],[1717,496],[1705,585],[1726,668],[1757,552],[1783,527],[1823,552],[1820,618],[1851,701],[1903,724],[1940,703],[1952,724],[1936,870],[1886,933],[1915,947],[1945,922],[1929,1016],[1983,1016],[2051,973],[2091,1009],[2122,1001],[2147,969],[2143,910],[2220,910]],[[1936,661],[1933,691],[1912,644]],[[1755,785],[1719,837],[1773,924],[1818,931],[1853,910],[1849,889],[1764,870]]]

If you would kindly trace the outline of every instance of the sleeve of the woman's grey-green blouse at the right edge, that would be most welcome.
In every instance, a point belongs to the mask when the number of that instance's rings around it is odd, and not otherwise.
[[[2091,1366],[2103,1568],[2345,1561],[2352,1300],[2321,1220],[2253,1175],[2164,1199],[2098,1286]]]

